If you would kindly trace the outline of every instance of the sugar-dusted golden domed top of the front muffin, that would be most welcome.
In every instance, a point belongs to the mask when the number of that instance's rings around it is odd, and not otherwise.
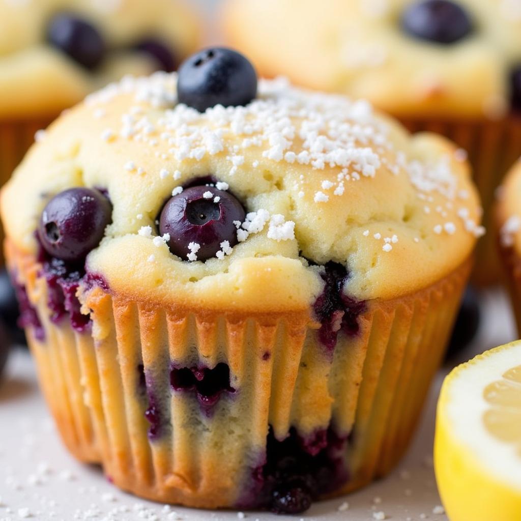
[[[308,308],[329,263],[353,299],[425,288],[482,234],[465,153],[438,135],[282,79],[200,112],[178,103],[177,79],[111,84],[39,134],[2,190],[17,250],[36,254],[39,226],[56,231],[64,191],[96,189],[75,192],[88,207],[74,218],[100,237],[62,258],[92,249],[86,271],[133,299],[269,312]]]

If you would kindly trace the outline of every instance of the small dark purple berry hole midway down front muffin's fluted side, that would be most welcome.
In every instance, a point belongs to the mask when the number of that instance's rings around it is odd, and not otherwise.
[[[203,412],[209,416],[222,394],[233,394],[230,384],[230,368],[219,363],[214,368],[175,367],[170,370],[170,386],[175,392],[195,394]]]

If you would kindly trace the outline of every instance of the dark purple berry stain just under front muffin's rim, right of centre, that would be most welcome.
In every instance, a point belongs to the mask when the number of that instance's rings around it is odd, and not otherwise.
[[[324,280],[324,291],[318,296],[313,308],[321,322],[318,338],[332,354],[340,331],[348,336],[358,333],[358,317],[364,313],[366,304],[344,294],[344,284],[349,278],[345,266],[328,262],[320,276]]]

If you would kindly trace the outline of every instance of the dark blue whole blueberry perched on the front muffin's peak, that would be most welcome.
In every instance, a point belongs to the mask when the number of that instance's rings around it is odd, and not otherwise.
[[[247,105],[257,95],[257,74],[242,54],[224,47],[208,48],[179,67],[177,95],[180,103],[200,112],[216,105]]]

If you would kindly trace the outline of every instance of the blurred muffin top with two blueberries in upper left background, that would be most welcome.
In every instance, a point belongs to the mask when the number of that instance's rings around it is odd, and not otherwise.
[[[178,0],[0,0],[0,120],[54,117],[125,73],[175,70],[199,40]]]

